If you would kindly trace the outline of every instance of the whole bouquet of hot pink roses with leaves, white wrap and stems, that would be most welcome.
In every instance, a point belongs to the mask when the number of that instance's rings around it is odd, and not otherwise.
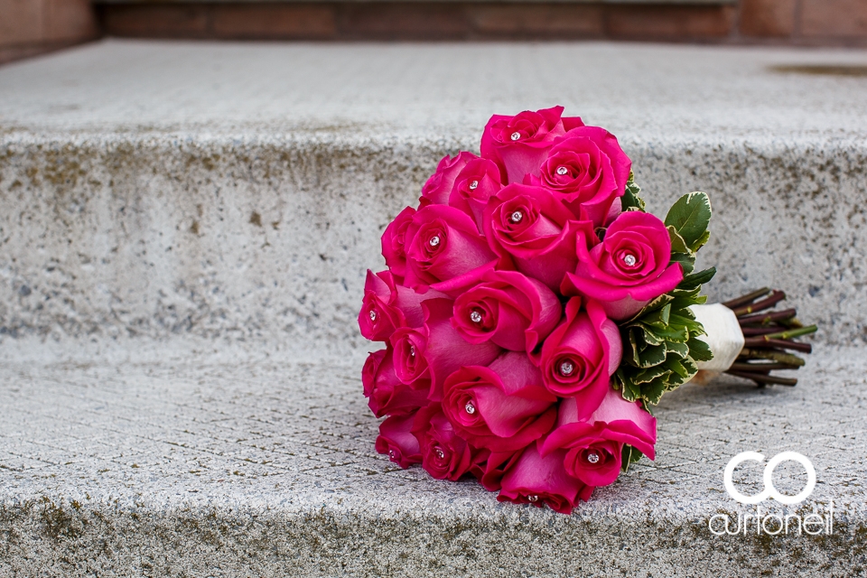
[[[707,195],[649,214],[617,139],[562,112],[491,117],[480,156],[443,158],[386,228],[359,326],[385,343],[362,373],[378,452],[569,513],[654,458],[667,391],[700,368],[788,384],[770,371],[811,328],[760,313],[779,292],[702,305]]]

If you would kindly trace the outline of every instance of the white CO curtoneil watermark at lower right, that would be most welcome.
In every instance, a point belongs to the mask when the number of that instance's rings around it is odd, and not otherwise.
[[[715,536],[737,536],[739,534],[746,536],[748,532],[751,533],[752,531],[758,535],[767,534],[769,536],[777,536],[778,534],[800,536],[805,533],[809,536],[831,535],[834,532],[834,500],[829,501],[824,514],[819,513],[814,503],[813,513],[806,514],[806,516],[800,514],[781,516],[773,513],[766,513],[762,516],[760,503],[766,499],[772,498],[785,506],[794,506],[809,498],[813,493],[813,489],[816,488],[816,469],[813,467],[813,462],[809,461],[805,455],[798,452],[782,452],[771,458],[765,465],[765,471],[762,475],[764,489],[758,494],[746,496],[735,488],[734,480],[732,480],[735,468],[744,461],[761,463],[764,460],[765,456],[759,452],[741,452],[725,466],[725,470],[722,472],[722,484],[725,486],[725,490],[735,501],[741,504],[755,505],[756,513],[739,513],[733,519],[728,514],[716,514],[707,522],[707,527],[711,533]],[[774,486],[774,470],[784,461],[796,461],[806,470],[806,486],[794,496],[781,493]],[[755,530],[752,529],[753,527]]]

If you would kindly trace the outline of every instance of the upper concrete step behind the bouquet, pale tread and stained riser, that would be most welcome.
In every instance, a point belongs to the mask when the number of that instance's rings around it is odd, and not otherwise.
[[[0,70],[0,333],[361,344],[379,232],[492,112],[606,126],[652,209],[708,191],[726,296],[867,338],[867,51],[105,42]],[[2,338],[2,336],[0,336]]]

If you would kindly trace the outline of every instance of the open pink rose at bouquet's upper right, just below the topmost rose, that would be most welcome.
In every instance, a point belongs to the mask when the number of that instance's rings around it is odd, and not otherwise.
[[[598,126],[581,126],[556,141],[539,175],[529,182],[555,191],[578,219],[602,227],[611,205],[626,191],[631,167],[614,135]]]

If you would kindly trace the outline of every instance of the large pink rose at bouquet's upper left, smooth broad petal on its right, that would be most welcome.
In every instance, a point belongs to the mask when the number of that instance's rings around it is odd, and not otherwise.
[[[414,289],[454,280],[496,260],[469,215],[445,205],[415,213],[406,228],[406,284]]]

